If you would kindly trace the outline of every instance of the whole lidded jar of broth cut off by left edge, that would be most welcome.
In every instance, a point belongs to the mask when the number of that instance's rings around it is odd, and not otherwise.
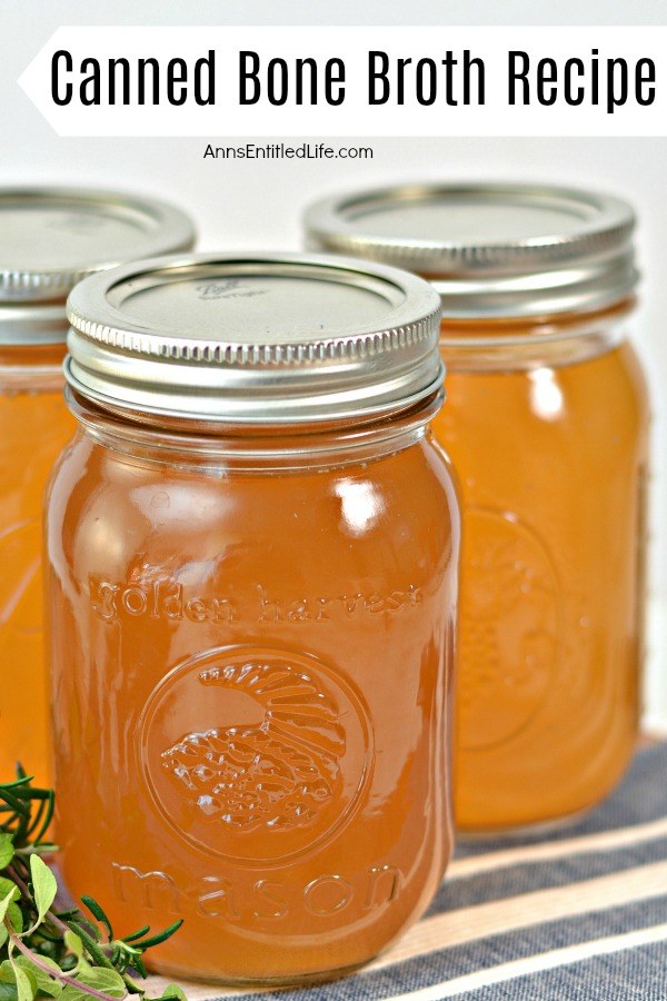
[[[40,554],[44,484],[74,430],[62,398],[67,294],[90,271],[192,238],[159,201],[0,188],[0,781],[18,761],[51,781]]]

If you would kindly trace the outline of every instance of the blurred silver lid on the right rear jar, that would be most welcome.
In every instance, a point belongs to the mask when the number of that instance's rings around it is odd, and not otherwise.
[[[635,215],[619,198],[547,185],[425,184],[327,198],[308,245],[428,277],[445,318],[603,309],[637,284]]]

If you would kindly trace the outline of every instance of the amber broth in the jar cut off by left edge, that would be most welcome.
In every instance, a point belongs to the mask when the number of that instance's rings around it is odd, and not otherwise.
[[[62,398],[62,353],[0,350],[1,781],[14,777],[18,761],[38,783],[51,779],[41,523],[47,477],[74,429]]]

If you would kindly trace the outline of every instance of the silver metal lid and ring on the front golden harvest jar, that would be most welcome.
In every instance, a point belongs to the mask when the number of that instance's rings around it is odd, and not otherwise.
[[[437,393],[440,300],[405,271],[299,254],[168,257],[71,293],[70,386],[222,424],[369,418]]]

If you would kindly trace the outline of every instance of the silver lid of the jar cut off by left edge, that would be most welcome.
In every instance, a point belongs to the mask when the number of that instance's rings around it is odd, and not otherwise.
[[[64,301],[87,275],[188,250],[190,219],[153,198],[88,188],[0,188],[0,344],[64,340]]]

